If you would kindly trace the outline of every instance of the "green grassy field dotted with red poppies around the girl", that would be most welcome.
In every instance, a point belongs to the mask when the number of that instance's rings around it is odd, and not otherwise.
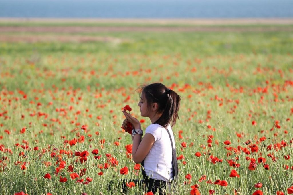
[[[0,194],[121,194],[142,179],[122,110],[145,130],[136,89],[154,82],[182,99],[178,194],[293,194],[292,26],[237,27],[0,31]]]

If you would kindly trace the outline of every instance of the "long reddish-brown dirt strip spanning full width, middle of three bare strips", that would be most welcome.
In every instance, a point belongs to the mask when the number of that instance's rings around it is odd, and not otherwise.
[[[0,27],[0,32],[275,32],[293,27]]]

